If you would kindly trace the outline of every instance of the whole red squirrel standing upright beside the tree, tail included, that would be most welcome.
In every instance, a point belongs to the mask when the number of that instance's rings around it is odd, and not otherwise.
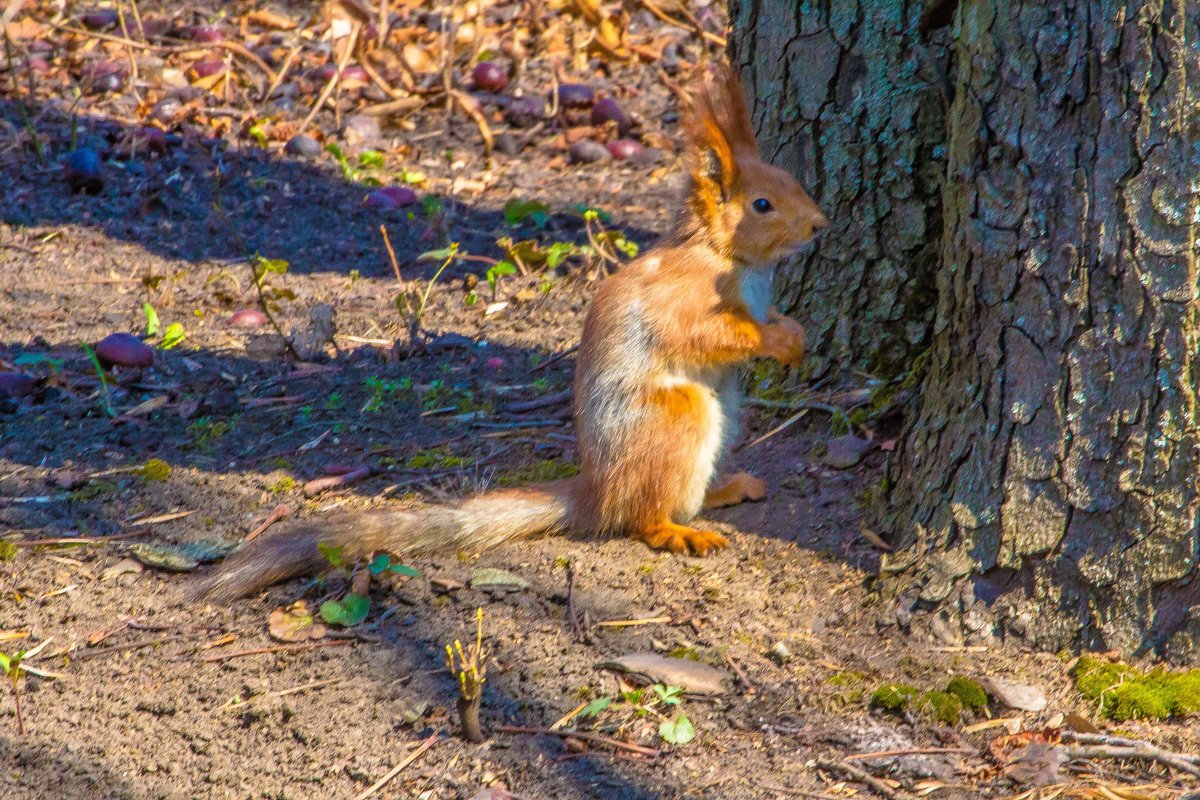
[[[346,558],[481,552],[547,534],[617,534],[704,555],[728,542],[689,527],[706,507],[757,500],[745,473],[714,475],[738,427],[738,365],[797,366],[799,323],[770,303],[774,265],[828,221],[786,172],[763,162],[728,65],[683,103],[688,182],[673,233],[596,291],[575,369],[576,477],[486,492],[455,505],[287,525],[250,543],[198,591],[254,594]]]

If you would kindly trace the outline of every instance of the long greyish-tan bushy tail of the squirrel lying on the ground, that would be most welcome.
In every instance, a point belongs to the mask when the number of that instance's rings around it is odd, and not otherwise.
[[[575,481],[502,489],[456,505],[344,515],[280,528],[247,545],[193,599],[228,602],[329,561],[318,545],[342,547],[347,560],[371,553],[397,558],[486,551],[515,539],[564,533],[575,511]]]

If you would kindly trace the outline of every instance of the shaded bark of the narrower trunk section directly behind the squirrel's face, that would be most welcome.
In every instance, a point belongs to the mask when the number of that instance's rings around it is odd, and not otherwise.
[[[832,221],[778,282],[816,377],[904,374],[928,348],[948,98],[947,48],[922,42],[922,8],[730,4],[731,59],[756,97],[763,154]]]

